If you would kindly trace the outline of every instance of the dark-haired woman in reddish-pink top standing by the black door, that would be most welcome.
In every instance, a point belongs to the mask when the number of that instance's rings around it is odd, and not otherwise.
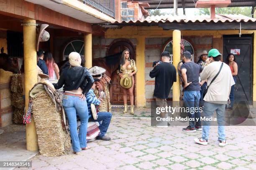
[[[227,60],[226,60],[226,64],[229,65],[231,73],[232,73],[232,76],[233,76],[233,79],[234,79],[234,81],[236,83],[236,76],[237,76],[237,73],[238,73],[238,67],[237,67],[237,64],[236,64],[236,57],[235,57],[235,55],[228,54],[228,57],[227,57]],[[227,109],[232,109],[233,104],[234,104],[234,100],[235,100],[235,85],[233,85],[231,87],[229,99],[230,99],[230,107],[227,108]]]

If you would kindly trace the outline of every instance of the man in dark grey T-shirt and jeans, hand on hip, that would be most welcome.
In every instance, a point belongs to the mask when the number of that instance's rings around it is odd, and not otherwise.
[[[192,62],[191,57],[190,52],[183,52],[182,60],[184,61],[184,64],[182,64],[180,67],[182,72],[182,80],[184,81],[184,104],[186,107],[189,107],[188,117],[190,119],[195,119],[189,121],[189,126],[187,128],[182,129],[185,132],[196,132],[196,130],[202,130],[200,121],[201,114],[199,112],[201,90],[199,75],[203,68],[200,65]]]

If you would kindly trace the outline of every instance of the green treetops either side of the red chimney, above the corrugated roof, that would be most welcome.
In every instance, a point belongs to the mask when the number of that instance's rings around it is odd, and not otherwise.
[[[242,14],[251,17],[251,7],[217,7],[216,14]],[[210,8],[200,8],[199,15],[210,15]]]

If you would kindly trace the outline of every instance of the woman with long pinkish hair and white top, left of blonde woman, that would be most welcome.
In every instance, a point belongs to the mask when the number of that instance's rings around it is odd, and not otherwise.
[[[49,80],[59,80],[59,67],[54,62],[51,52],[44,52],[44,61],[48,67]]]

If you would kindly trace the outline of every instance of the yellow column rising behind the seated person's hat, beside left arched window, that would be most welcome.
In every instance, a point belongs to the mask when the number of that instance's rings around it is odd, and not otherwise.
[[[92,33],[84,35],[84,59],[85,67],[92,67]]]

